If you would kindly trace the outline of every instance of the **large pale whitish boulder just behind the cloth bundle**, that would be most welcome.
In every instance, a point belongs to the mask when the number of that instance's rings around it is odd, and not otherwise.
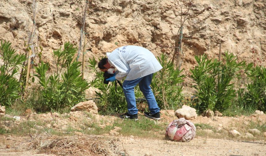
[[[197,117],[196,110],[194,108],[191,108],[190,106],[183,105],[182,108],[175,111],[175,115],[178,118],[185,118],[193,120]]]

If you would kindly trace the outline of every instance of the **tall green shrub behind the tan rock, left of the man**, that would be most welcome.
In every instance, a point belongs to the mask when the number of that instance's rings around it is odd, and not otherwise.
[[[42,111],[59,111],[85,100],[84,91],[89,85],[80,76],[81,63],[74,58],[76,52],[77,48],[69,42],[64,44],[63,50],[54,50],[57,72],[53,75],[47,76],[47,63],[41,62],[35,68],[35,76],[39,78],[41,98],[44,101],[44,106],[40,106],[44,109]]]

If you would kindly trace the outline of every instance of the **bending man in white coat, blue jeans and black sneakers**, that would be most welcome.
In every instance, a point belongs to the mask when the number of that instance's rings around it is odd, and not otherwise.
[[[152,52],[139,46],[122,46],[106,55],[108,59],[101,59],[98,63],[100,70],[110,74],[114,73],[115,68],[118,70],[118,74],[106,80],[113,82],[126,77],[123,82],[123,92],[127,101],[127,113],[119,117],[138,120],[134,87],[139,84],[139,89],[147,99],[150,111],[144,112],[144,115],[159,120],[160,108],[150,84],[153,73],[161,70],[162,66]]]

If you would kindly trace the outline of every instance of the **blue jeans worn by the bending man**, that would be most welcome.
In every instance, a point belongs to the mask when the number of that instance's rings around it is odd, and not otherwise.
[[[160,108],[155,100],[155,97],[152,93],[152,89],[150,84],[152,82],[152,75],[147,75],[136,80],[125,80],[123,82],[123,91],[127,101],[127,110],[130,115],[134,115],[138,113],[138,109],[136,106],[136,98],[134,93],[134,87],[139,84],[139,89],[145,96],[148,102],[149,111],[152,114],[158,113]]]

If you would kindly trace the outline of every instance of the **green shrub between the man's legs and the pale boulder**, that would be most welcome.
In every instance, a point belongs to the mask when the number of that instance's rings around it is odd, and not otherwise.
[[[183,100],[182,83],[185,77],[181,75],[182,70],[174,69],[174,64],[166,54],[157,58],[162,69],[153,74],[152,90],[160,108],[176,109]]]

